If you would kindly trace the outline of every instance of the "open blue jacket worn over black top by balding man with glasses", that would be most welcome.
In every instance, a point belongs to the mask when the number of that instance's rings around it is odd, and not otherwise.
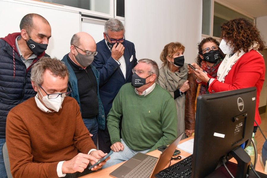
[[[63,59],[61,61],[63,61],[69,71],[69,84],[71,85],[71,97],[75,98],[78,102],[78,104],[80,105],[80,97],[79,97],[79,93],[78,93],[78,82],[77,82],[77,78],[76,75],[73,71],[73,69],[71,68],[71,66],[69,65],[67,56],[69,55],[66,54]],[[101,130],[105,129],[105,112],[104,112],[104,107],[103,104],[101,102],[100,96],[99,96],[99,72],[96,70],[96,67],[91,65],[92,71],[96,77],[96,82],[97,82],[97,96],[98,96],[98,116],[97,116],[97,123],[98,123],[98,128],[100,128]],[[81,108],[81,105],[80,105]],[[90,108],[88,108],[90,109]]]

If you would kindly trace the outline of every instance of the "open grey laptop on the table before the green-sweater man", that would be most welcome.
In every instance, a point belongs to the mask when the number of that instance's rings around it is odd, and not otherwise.
[[[137,153],[109,175],[116,178],[148,178],[155,177],[170,162],[171,157],[182,138],[183,133],[169,145],[159,158]]]

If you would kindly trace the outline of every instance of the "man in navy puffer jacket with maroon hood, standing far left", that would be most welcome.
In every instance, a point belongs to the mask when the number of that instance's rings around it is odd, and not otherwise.
[[[27,14],[20,21],[20,32],[0,39],[0,177],[7,177],[2,155],[6,141],[8,112],[36,92],[31,85],[31,66],[45,53],[51,27],[38,14]],[[29,108],[31,109],[31,108]]]

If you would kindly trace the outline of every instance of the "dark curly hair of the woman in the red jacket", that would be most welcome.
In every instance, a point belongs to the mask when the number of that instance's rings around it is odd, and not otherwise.
[[[245,53],[253,46],[255,42],[259,44],[258,50],[262,51],[265,42],[260,37],[260,32],[254,24],[248,19],[236,18],[223,23],[222,26],[222,39],[231,42],[230,46],[233,52],[242,49]]]

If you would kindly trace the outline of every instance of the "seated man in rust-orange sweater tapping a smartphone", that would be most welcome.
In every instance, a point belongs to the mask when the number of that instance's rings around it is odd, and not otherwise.
[[[68,97],[68,70],[56,58],[41,58],[31,71],[36,96],[7,116],[6,142],[13,177],[80,177],[107,155],[96,150],[79,105]],[[80,152],[80,153],[79,153]]]

